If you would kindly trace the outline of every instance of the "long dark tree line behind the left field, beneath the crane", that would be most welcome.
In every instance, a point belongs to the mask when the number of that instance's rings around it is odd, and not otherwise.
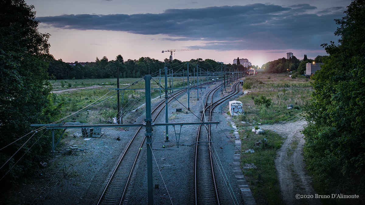
[[[65,79],[83,79],[83,78],[116,78],[117,68],[119,68],[120,78],[140,78],[146,74],[162,72],[165,67],[177,71],[185,69],[183,65],[186,63],[178,59],[170,61],[165,58],[164,62],[150,57],[141,57],[138,60],[128,59],[124,61],[122,55],[118,55],[114,60],[108,60],[107,57],[101,59],[96,57],[95,62],[89,62],[88,65],[81,65],[79,62],[74,62],[74,66],[62,61],[62,59],[52,59],[48,65],[48,73],[50,79],[65,80]],[[202,69],[213,69],[220,64],[212,59],[191,59],[189,61],[189,71],[193,72],[196,65]],[[235,64],[234,64],[235,65]],[[181,72],[181,71],[180,71]]]

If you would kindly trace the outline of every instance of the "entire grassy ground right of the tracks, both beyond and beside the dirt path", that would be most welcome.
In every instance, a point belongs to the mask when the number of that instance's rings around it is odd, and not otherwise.
[[[241,167],[249,163],[257,167],[243,169],[243,174],[257,204],[281,204],[274,159],[284,139],[270,130],[265,130],[265,134],[256,135],[251,129],[254,126],[260,127],[260,124],[299,119],[305,102],[310,100],[313,92],[311,80],[301,77],[292,79],[285,74],[258,74],[247,77],[243,86],[246,87],[243,90],[246,90],[247,94],[237,100],[243,103],[245,116],[233,117],[242,142]],[[261,96],[270,98],[271,105],[255,105],[253,99]],[[287,104],[293,104],[293,109],[287,109]],[[261,145],[255,146],[259,140]],[[253,149],[254,152],[245,153],[249,149]]]

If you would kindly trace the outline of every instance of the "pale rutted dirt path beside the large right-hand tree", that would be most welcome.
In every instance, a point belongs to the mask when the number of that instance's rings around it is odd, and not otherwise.
[[[285,139],[283,146],[275,159],[275,166],[280,183],[280,191],[286,205],[292,204],[322,204],[315,198],[311,182],[303,162],[303,126],[307,122],[300,120],[284,124],[261,125],[262,129],[270,129],[283,136]],[[313,198],[296,198],[296,195],[312,195]],[[304,197],[304,196],[303,196]]]

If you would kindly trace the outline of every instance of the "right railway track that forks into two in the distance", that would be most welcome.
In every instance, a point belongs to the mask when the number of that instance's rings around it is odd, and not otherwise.
[[[220,85],[212,89],[205,99],[201,121],[205,121],[204,115],[208,114],[207,121],[211,121],[213,109],[224,100],[239,92],[238,82],[233,86],[233,92],[213,101],[214,94],[219,90]],[[207,133],[207,135],[204,135]],[[195,150],[195,204],[218,204],[219,196],[214,178],[214,169],[211,153],[210,125],[208,128],[199,125],[196,150]]]

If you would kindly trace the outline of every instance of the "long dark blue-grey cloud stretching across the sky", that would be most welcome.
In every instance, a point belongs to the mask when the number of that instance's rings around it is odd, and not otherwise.
[[[152,14],[61,15],[38,17],[43,24],[64,29],[126,31],[165,34],[165,40],[203,40],[203,49],[262,50],[318,49],[335,40],[334,19],[343,12],[315,10],[309,4],[290,7],[249,4],[198,9],[167,9]],[[340,9],[341,10],[341,9]]]

